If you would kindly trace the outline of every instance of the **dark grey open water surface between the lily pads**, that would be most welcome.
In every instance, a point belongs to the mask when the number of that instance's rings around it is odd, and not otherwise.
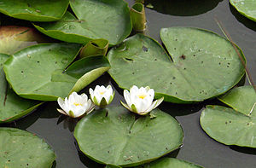
[[[130,4],[133,1],[128,1]],[[222,34],[214,17],[224,23],[233,41],[247,57],[247,67],[256,82],[256,22],[241,16],[228,0],[149,0],[154,9],[146,9],[148,36],[160,42],[160,28],[170,26],[195,26]],[[113,84],[108,74],[86,87],[86,92],[96,84]],[[248,84],[246,82],[246,84]],[[113,84],[115,87],[116,85]],[[116,87],[117,88],[117,87]],[[122,90],[118,90],[119,93]],[[116,90],[113,105],[123,99]],[[225,146],[201,129],[199,118],[207,104],[218,104],[217,100],[195,105],[163,103],[160,109],[175,117],[184,131],[183,147],[171,156],[184,159],[206,168],[253,168],[256,167],[256,149]],[[63,117],[56,111],[56,102],[47,102],[37,111],[9,125],[28,130],[43,137],[55,150],[55,168],[100,168],[103,165],[79,153],[73,137],[75,119]]]

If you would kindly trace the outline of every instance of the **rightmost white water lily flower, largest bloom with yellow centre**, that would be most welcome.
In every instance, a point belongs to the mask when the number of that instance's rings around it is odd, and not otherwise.
[[[146,115],[152,111],[155,107],[158,107],[160,103],[164,100],[164,97],[154,100],[154,90],[147,87],[141,87],[133,85],[130,89],[124,90],[124,97],[127,104],[121,101],[121,104],[133,113],[140,115]]]

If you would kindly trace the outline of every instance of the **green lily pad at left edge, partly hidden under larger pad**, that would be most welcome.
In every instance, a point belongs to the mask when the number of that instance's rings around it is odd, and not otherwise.
[[[9,88],[3,72],[3,63],[9,59],[9,55],[0,54],[0,124],[19,119],[32,112],[41,103],[22,99]]]

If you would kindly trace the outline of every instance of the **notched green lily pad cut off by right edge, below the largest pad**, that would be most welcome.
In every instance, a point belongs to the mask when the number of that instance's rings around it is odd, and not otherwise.
[[[236,88],[221,99],[234,109],[207,106],[201,113],[202,129],[226,145],[256,148],[256,93],[253,87]]]

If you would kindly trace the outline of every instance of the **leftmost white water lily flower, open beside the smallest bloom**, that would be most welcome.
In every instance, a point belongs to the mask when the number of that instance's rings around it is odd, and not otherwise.
[[[84,93],[82,95],[78,95],[76,92],[73,92],[70,96],[62,100],[61,97],[58,98],[58,103],[61,109],[57,109],[60,113],[68,115],[72,118],[78,118],[84,115],[84,113],[90,113],[95,105],[88,100],[88,96]]]

